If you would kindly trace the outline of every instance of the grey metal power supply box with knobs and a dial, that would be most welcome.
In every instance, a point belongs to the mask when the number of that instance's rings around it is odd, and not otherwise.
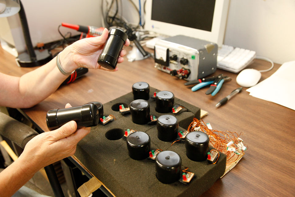
[[[177,35],[155,43],[155,67],[187,81],[204,78],[216,71],[215,43]]]

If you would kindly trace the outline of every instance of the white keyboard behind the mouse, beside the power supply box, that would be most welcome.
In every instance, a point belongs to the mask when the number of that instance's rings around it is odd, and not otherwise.
[[[222,45],[222,48],[218,49],[217,68],[238,73],[248,66],[255,57],[256,52],[253,50]]]

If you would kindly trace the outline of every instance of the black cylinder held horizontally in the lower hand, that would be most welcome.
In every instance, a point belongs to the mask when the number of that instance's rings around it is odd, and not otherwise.
[[[53,109],[46,114],[46,123],[50,131],[71,120],[77,123],[77,127],[96,126],[99,120],[99,111],[96,104],[88,103],[77,107]]]

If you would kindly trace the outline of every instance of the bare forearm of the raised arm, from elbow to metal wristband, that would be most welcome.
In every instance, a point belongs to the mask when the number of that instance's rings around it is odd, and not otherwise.
[[[19,94],[22,99],[19,106],[16,107],[28,108],[36,105],[57,90],[67,78],[58,70],[56,58],[53,58],[44,66],[24,74],[19,79]],[[59,57],[61,66],[67,72],[72,72],[77,68],[71,58],[67,49],[62,51]]]

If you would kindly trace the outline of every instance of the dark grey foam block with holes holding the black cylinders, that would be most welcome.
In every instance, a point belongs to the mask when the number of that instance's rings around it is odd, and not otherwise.
[[[150,87],[150,96],[159,92]],[[131,115],[122,115],[119,104],[129,107],[133,101],[132,92],[103,104],[104,116],[112,114],[116,120],[106,125],[97,125],[77,145],[75,156],[96,176],[112,193],[117,196],[199,196],[209,189],[225,172],[226,155],[220,153],[216,164],[208,165],[207,161],[194,162],[187,158],[184,143],[163,142],[157,137],[156,124],[137,125],[132,122]],[[159,117],[155,111],[155,99],[148,100],[150,115]],[[179,120],[179,131],[187,131],[187,127],[196,117],[200,119],[200,108],[175,98],[175,105],[187,109],[175,115]],[[116,109],[112,106],[116,106]],[[116,110],[116,111],[114,111]],[[133,160],[128,155],[126,141],[121,137],[127,129],[146,132],[151,138],[151,150],[162,149],[178,153],[182,159],[182,170],[195,173],[195,178],[188,184],[180,182],[161,183],[155,175],[155,163],[144,160]],[[211,147],[210,147],[211,149]]]

